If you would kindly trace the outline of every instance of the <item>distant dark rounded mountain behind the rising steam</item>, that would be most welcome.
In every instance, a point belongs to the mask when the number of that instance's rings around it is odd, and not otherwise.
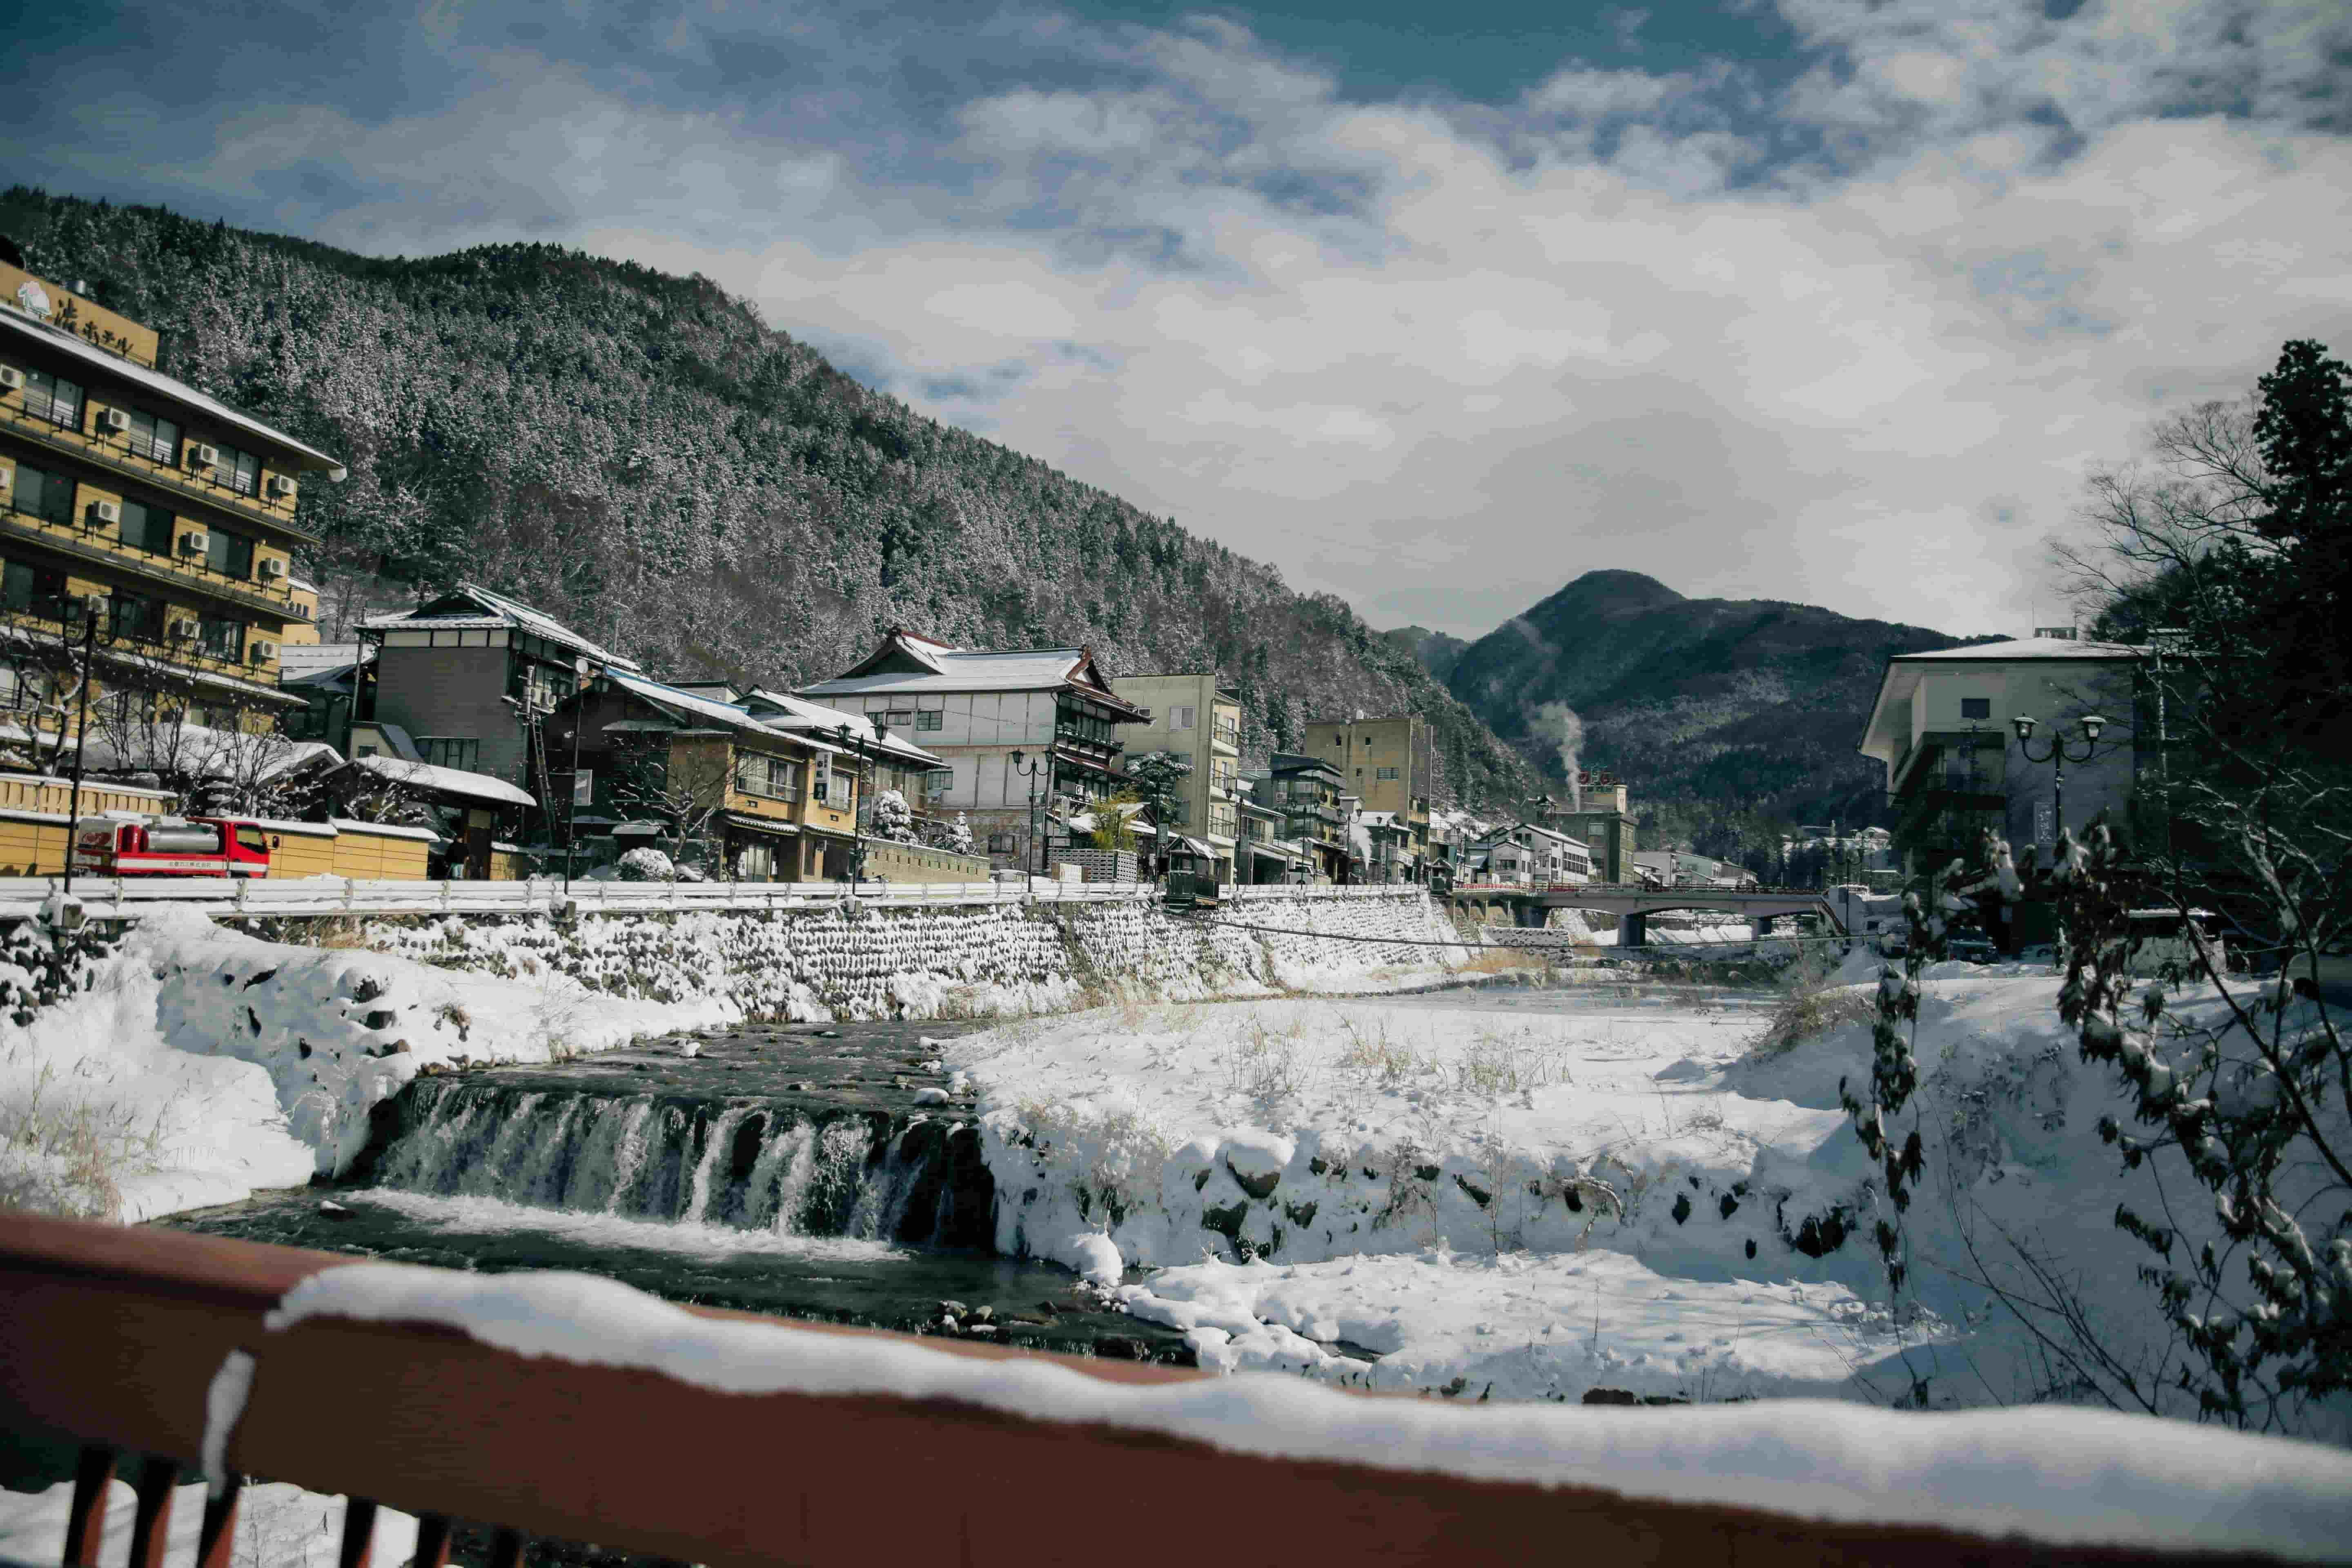
[[[1917,625],[1853,621],[1778,599],[1686,599],[1637,571],[1588,571],[1458,654],[1446,684],[1557,776],[1557,715],[1583,722],[1583,762],[1632,785],[1712,849],[1750,853],[1722,825],[1882,823],[1886,771],[1853,745],[1893,654],[1950,649]],[[1675,811],[1675,806],[1684,806]]]

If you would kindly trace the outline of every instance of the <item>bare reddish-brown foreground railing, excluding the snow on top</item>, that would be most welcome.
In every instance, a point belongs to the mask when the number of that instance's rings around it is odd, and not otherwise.
[[[263,1328],[296,1281],[346,1262],[0,1213],[0,1425],[82,1446],[68,1563],[96,1563],[118,1472],[139,1493],[129,1561],[162,1561],[172,1486],[200,1460],[207,1387],[233,1349],[256,1375],[226,1469],[348,1495],[346,1568],[367,1563],[379,1505],[421,1516],[419,1568],[447,1561],[454,1519],[496,1528],[494,1563],[517,1563],[524,1535],[713,1566],[2192,1561],[1265,1460],[941,1399],[717,1394],[421,1324]],[[1056,1361],[1115,1382],[1197,1375]],[[205,1568],[228,1563],[235,1507],[235,1488],[207,1507]]]

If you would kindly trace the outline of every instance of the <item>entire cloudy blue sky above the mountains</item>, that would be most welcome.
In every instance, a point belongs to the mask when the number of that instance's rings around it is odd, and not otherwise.
[[[31,12],[0,176],[708,273],[1374,625],[2023,632],[2091,465],[2352,355],[2343,0],[358,12]]]

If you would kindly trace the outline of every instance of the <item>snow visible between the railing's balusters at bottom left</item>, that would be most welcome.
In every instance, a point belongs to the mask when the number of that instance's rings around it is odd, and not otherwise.
[[[129,1481],[115,1481],[106,1493],[106,1540],[96,1561],[129,1561],[136,1493]],[[66,1561],[66,1521],[73,1512],[73,1481],[59,1481],[38,1493],[0,1490],[0,1559],[19,1563]],[[172,1488],[172,1528],[165,1547],[169,1561],[193,1563],[195,1537],[205,1523],[205,1483]],[[249,1483],[238,1497],[238,1528],[230,1563],[235,1568],[334,1568],[343,1542],[343,1500],[320,1497],[282,1481]],[[379,1563],[405,1563],[416,1554],[416,1519],[397,1509],[376,1509]]]

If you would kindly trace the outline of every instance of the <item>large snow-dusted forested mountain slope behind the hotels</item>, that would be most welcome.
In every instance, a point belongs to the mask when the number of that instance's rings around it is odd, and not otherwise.
[[[922,418],[706,277],[546,244],[379,261],[16,188],[0,233],[162,331],[198,388],[339,454],[303,559],[332,630],[456,576],[673,677],[797,684],[903,623],[1223,670],[1244,750],[1423,712],[1439,795],[1531,773],[1341,599],[1035,458]]]

